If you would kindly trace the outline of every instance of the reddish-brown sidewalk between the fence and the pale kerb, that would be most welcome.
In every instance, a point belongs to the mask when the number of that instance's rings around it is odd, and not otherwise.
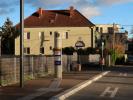
[[[99,73],[101,71],[70,72],[64,73],[61,81],[47,76],[25,82],[24,88],[18,84],[0,87],[0,100],[48,100]]]

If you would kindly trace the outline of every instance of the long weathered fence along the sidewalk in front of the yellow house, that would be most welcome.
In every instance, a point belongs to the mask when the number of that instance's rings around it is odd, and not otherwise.
[[[77,62],[77,55],[63,55],[63,71],[70,71],[70,65]],[[88,56],[81,57],[81,63],[89,62]],[[86,59],[86,60],[85,60]],[[84,61],[84,62],[82,62]],[[86,61],[86,62],[85,62]],[[0,85],[7,85],[19,81],[19,56],[2,56],[0,58]],[[25,79],[33,79],[47,74],[54,74],[53,56],[25,56],[24,57],[24,76]]]

